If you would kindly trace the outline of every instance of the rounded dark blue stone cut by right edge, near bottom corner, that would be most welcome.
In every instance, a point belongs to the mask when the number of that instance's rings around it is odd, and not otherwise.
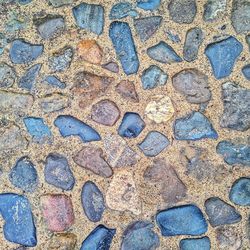
[[[240,178],[234,182],[229,199],[240,206],[250,206],[250,178]]]

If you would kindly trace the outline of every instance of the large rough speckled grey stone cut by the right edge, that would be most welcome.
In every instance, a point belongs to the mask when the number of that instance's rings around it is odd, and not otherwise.
[[[223,128],[246,131],[250,128],[250,90],[233,82],[222,85],[223,115],[220,125]]]

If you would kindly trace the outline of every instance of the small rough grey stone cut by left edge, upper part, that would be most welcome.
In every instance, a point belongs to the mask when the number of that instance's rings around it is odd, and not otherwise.
[[[0,63],[0,88],[9,88],[16,81],[16,72],[7,63]]]

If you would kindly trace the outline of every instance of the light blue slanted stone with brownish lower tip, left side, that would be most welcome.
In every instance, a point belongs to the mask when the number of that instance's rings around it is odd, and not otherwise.
[[[42,118],[26,117],[23,121],[34,142],[50,143],[52,141],[52,133]]]

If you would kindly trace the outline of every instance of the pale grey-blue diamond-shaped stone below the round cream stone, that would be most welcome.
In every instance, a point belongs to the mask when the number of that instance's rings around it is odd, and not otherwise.
[[[170,144],[168,138],[160,132],[151,131],[138,145],[146,156],[156,156]]]

